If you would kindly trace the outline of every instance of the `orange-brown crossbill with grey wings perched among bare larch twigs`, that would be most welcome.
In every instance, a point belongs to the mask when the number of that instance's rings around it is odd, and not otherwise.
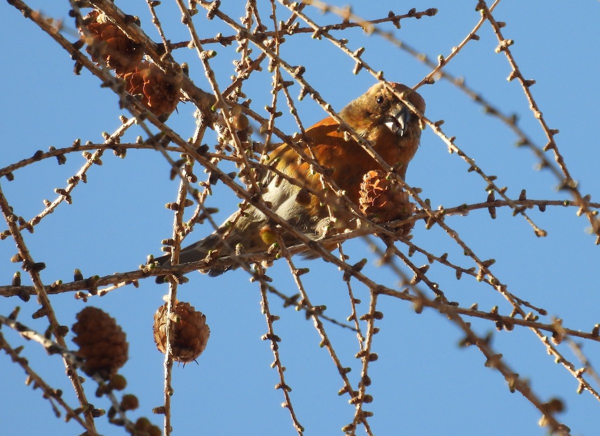
[[[385,83],[397,93],[403,93],[404,100],[409,101],[418,112],[425,112],[425,101],[418,92],[401,83],[379,82],[347,104],[339,116],[362,139],[368,140],[373,150],[404,179],[407,166],[419,146],[422,123],[419,116],[411,112]],[[344,191],[350,202],[358,205],[363,176],[370,170],[382,169],[380,164],[331,116],[306,130],[305,137],[308,140],[304,146],[305,153],[312,153],[337,188]],[[320,174],[311,172],[310,163],[299,159],[298,153],[286,143],[269,153],[269,162],[287,177],[266,171],[260,179],[265,204],[310,239],[319,239],[325,233],[323,229],[330,224],[330,210],[324,205],[326,194],[314,194],[325,191]],[[328,192],[331,193],[331,190]],[[331,194],[328,195],[328,200],[331,200]],[[339,209],[335,202],[328,201],[328,204]],[[236,246],[243,247],[246,254],[266,251],[274,242],[269,221],[263,212],[248,205],[242,214],[237,211],[227,218],[214,233],[182,248],[179,263],[202,260],[215,249],[218,249],[219,256],[230,255],[235,252]],[[293,235],[284,233],[282,236],[286,245],[298,242]],[[154,261],[160,266],[169,265],[170,255]],[[215,267],[209,270],[209,275],[220,275],[230,268]],[[162,281],[164,276],[157,277],[157,282]]]

